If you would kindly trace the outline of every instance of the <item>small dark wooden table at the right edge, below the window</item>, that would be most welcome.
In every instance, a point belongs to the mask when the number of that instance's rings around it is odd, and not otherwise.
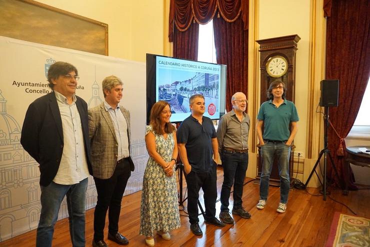
[[[359,147],[365,147],[367,150],[370,149],[370,146],[353,146],[347,147],[347,156],[345,157],[345,169],[349,177],[349,165],[358,165],[358,166],[365,166],[370,168],[370,154],[362,153],[359,151]],[[345,185],[346,190],[348,189],[348,185]]]

